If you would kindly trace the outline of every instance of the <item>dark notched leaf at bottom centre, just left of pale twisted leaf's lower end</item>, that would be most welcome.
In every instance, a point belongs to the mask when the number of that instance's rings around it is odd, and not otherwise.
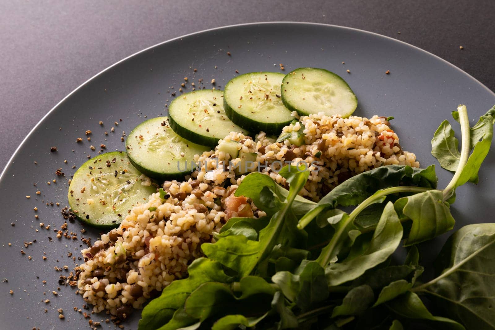
[[[329,295],[325,271],[314,261],[306,263],[297,275],[278,272],[272,276],[272,282],[303,311]]]

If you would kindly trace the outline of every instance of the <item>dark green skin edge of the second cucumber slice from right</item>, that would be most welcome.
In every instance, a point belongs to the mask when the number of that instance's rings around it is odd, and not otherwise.
[[[260,131],[263,131],[263,132],[265,132],[267,134],[279,134],[285,126],[289,125],[294,120],[294,118],[291,118],[287,122],[281,122],[281,123],[263,123],[263,122],[258,122],[258,121],[254,121],[251,118],[249,118],[249,117],[247,117],[247,116],[245,116],[245,115],[243,115],[243,114],[235,111],[234,108],[232,108],[231,106],[229,106],[229,104],[227,103],[227,98],[225,97],[225,93],[228,92],[229,83],[231,81],[233,81],[234,79],[242,79],[242,77],[251,75],[253,73],[254,72],[248,72],[248,73],[239,75],[239,76],[231,79],[225,85],[225,89],[224,89],[224,93],[223,93],[224,94],[224,97],[223,97],[223,108],[225,110],[225,113],[227,114],[227,117],[229,117],[229,119],[234,124],[236,124],[238,126],[241,126],[242,128],[244,128],[245,130],[247,130],[249,132],[258,133]],[[262,73],[265,73],[265,72],[262,72]],[[266,73],[280,74],[279,72],[266,72]],[[243,96],[246,96],[246,95],[243,95]]]

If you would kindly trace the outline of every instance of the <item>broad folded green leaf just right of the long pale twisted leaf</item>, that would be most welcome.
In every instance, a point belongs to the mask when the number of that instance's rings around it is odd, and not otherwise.
[[[396,210],[412,220],[405,245],[432,239],[454,227],[455,220],[443,199],[441,190],[428,190],[396,201]]]

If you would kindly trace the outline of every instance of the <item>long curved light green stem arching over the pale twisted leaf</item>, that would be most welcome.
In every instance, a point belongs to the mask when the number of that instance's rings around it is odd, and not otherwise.
[[[344,232],[346,231],[347,226],[349,224],[351,224],[356,219],[356,217],[359,215],[359,213],[361,213],[366,207],[368,207],[369,205],[371,205],[373,203],[376,203],[377,201],[379,201],[383,197],[390,195],[390,194],[393,194],[393,193],[397,193],[397,192],[418,193],[418,192],[424,192],[424,191],[428,191],[428,190],[432,190],[432,189],[431,188],[423,188],[423,187],[391,187],[391,188],[387,188],[387,189],[383,189],[383,190],[378,190],[373,195],[366,198],[359,205],[357,205],[356,208],[354,210],[352,210],[352,212],[350,212],[349,217],[346,220],[344,220],[345,223],[343,225],[339,226],[338,231],[334,234],[334,236],[332,236],[332,238],[330,239],[330,243],[328,245],[329,248],[326,249],[326,251],[325,251],[326,254],[318,257],[318,259],[320,260],[320,266],[323,268],[325,268],[327,266],[327,264],[330,262],[330,260],[334,257],[334,249],[337,246],[337,243],[339,242],[340,236],[344,235]]]

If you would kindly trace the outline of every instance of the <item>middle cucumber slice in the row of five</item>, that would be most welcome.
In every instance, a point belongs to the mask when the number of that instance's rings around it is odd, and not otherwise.
[[[181,137],[215,146],[230,132],[248,135],[225,114],[223,92],[201,90],[177,96],[168,107],[170,127]]]

